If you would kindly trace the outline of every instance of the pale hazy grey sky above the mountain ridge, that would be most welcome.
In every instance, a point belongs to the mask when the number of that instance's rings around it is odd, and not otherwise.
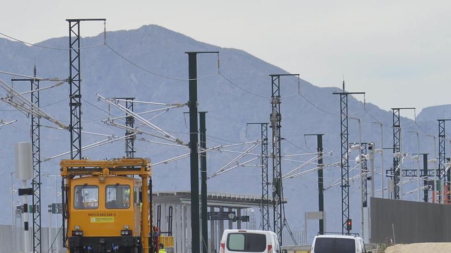
[[[450,1],[7,1],[0,32],[30,42],[67,36],[66,18],[107,30],[157,24],[245,50],[318,86],[366,91],[384,109],[449,103]],[[84,24],[97,35],[103,24]]]

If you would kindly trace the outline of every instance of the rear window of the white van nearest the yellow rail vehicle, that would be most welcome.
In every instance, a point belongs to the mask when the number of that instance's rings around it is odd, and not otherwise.
[[[266,245],[266,235],[263,234],[232,233],[227,235],[227,249],[230,251],[263,252]]]

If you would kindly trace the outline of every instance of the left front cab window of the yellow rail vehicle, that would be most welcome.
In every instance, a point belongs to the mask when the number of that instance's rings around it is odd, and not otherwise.
[[[83,185],[74,187],[74,208],[75,209],[97,209],[98,208],[98,187]]]

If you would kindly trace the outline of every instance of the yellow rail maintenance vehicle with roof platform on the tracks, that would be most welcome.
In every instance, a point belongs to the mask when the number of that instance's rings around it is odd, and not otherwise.
[[[68,253],[154,252],[149,159],[61,160],[60,171]]]

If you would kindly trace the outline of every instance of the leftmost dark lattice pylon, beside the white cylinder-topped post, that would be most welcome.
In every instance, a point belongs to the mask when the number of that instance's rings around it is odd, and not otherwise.
[[[34,76],[36,76],[36,66],[34,67]],[[39,80],[35,79],[11,79],[14,81],[29,81],[30,82],[30,93],[31,95],[31,103],[39,107]],[[32,246],[33,252],[42,252],[42,231],[41,231],[41,194],[40,194],[40,119],[39,117],[31,114],[31,149],[32,149],[32,158],[33,158],[33,179],[31,181],[32,189],[33,189],[33,198],[32,198],[32,210],[30,211],[33,216],[32,220]]]

